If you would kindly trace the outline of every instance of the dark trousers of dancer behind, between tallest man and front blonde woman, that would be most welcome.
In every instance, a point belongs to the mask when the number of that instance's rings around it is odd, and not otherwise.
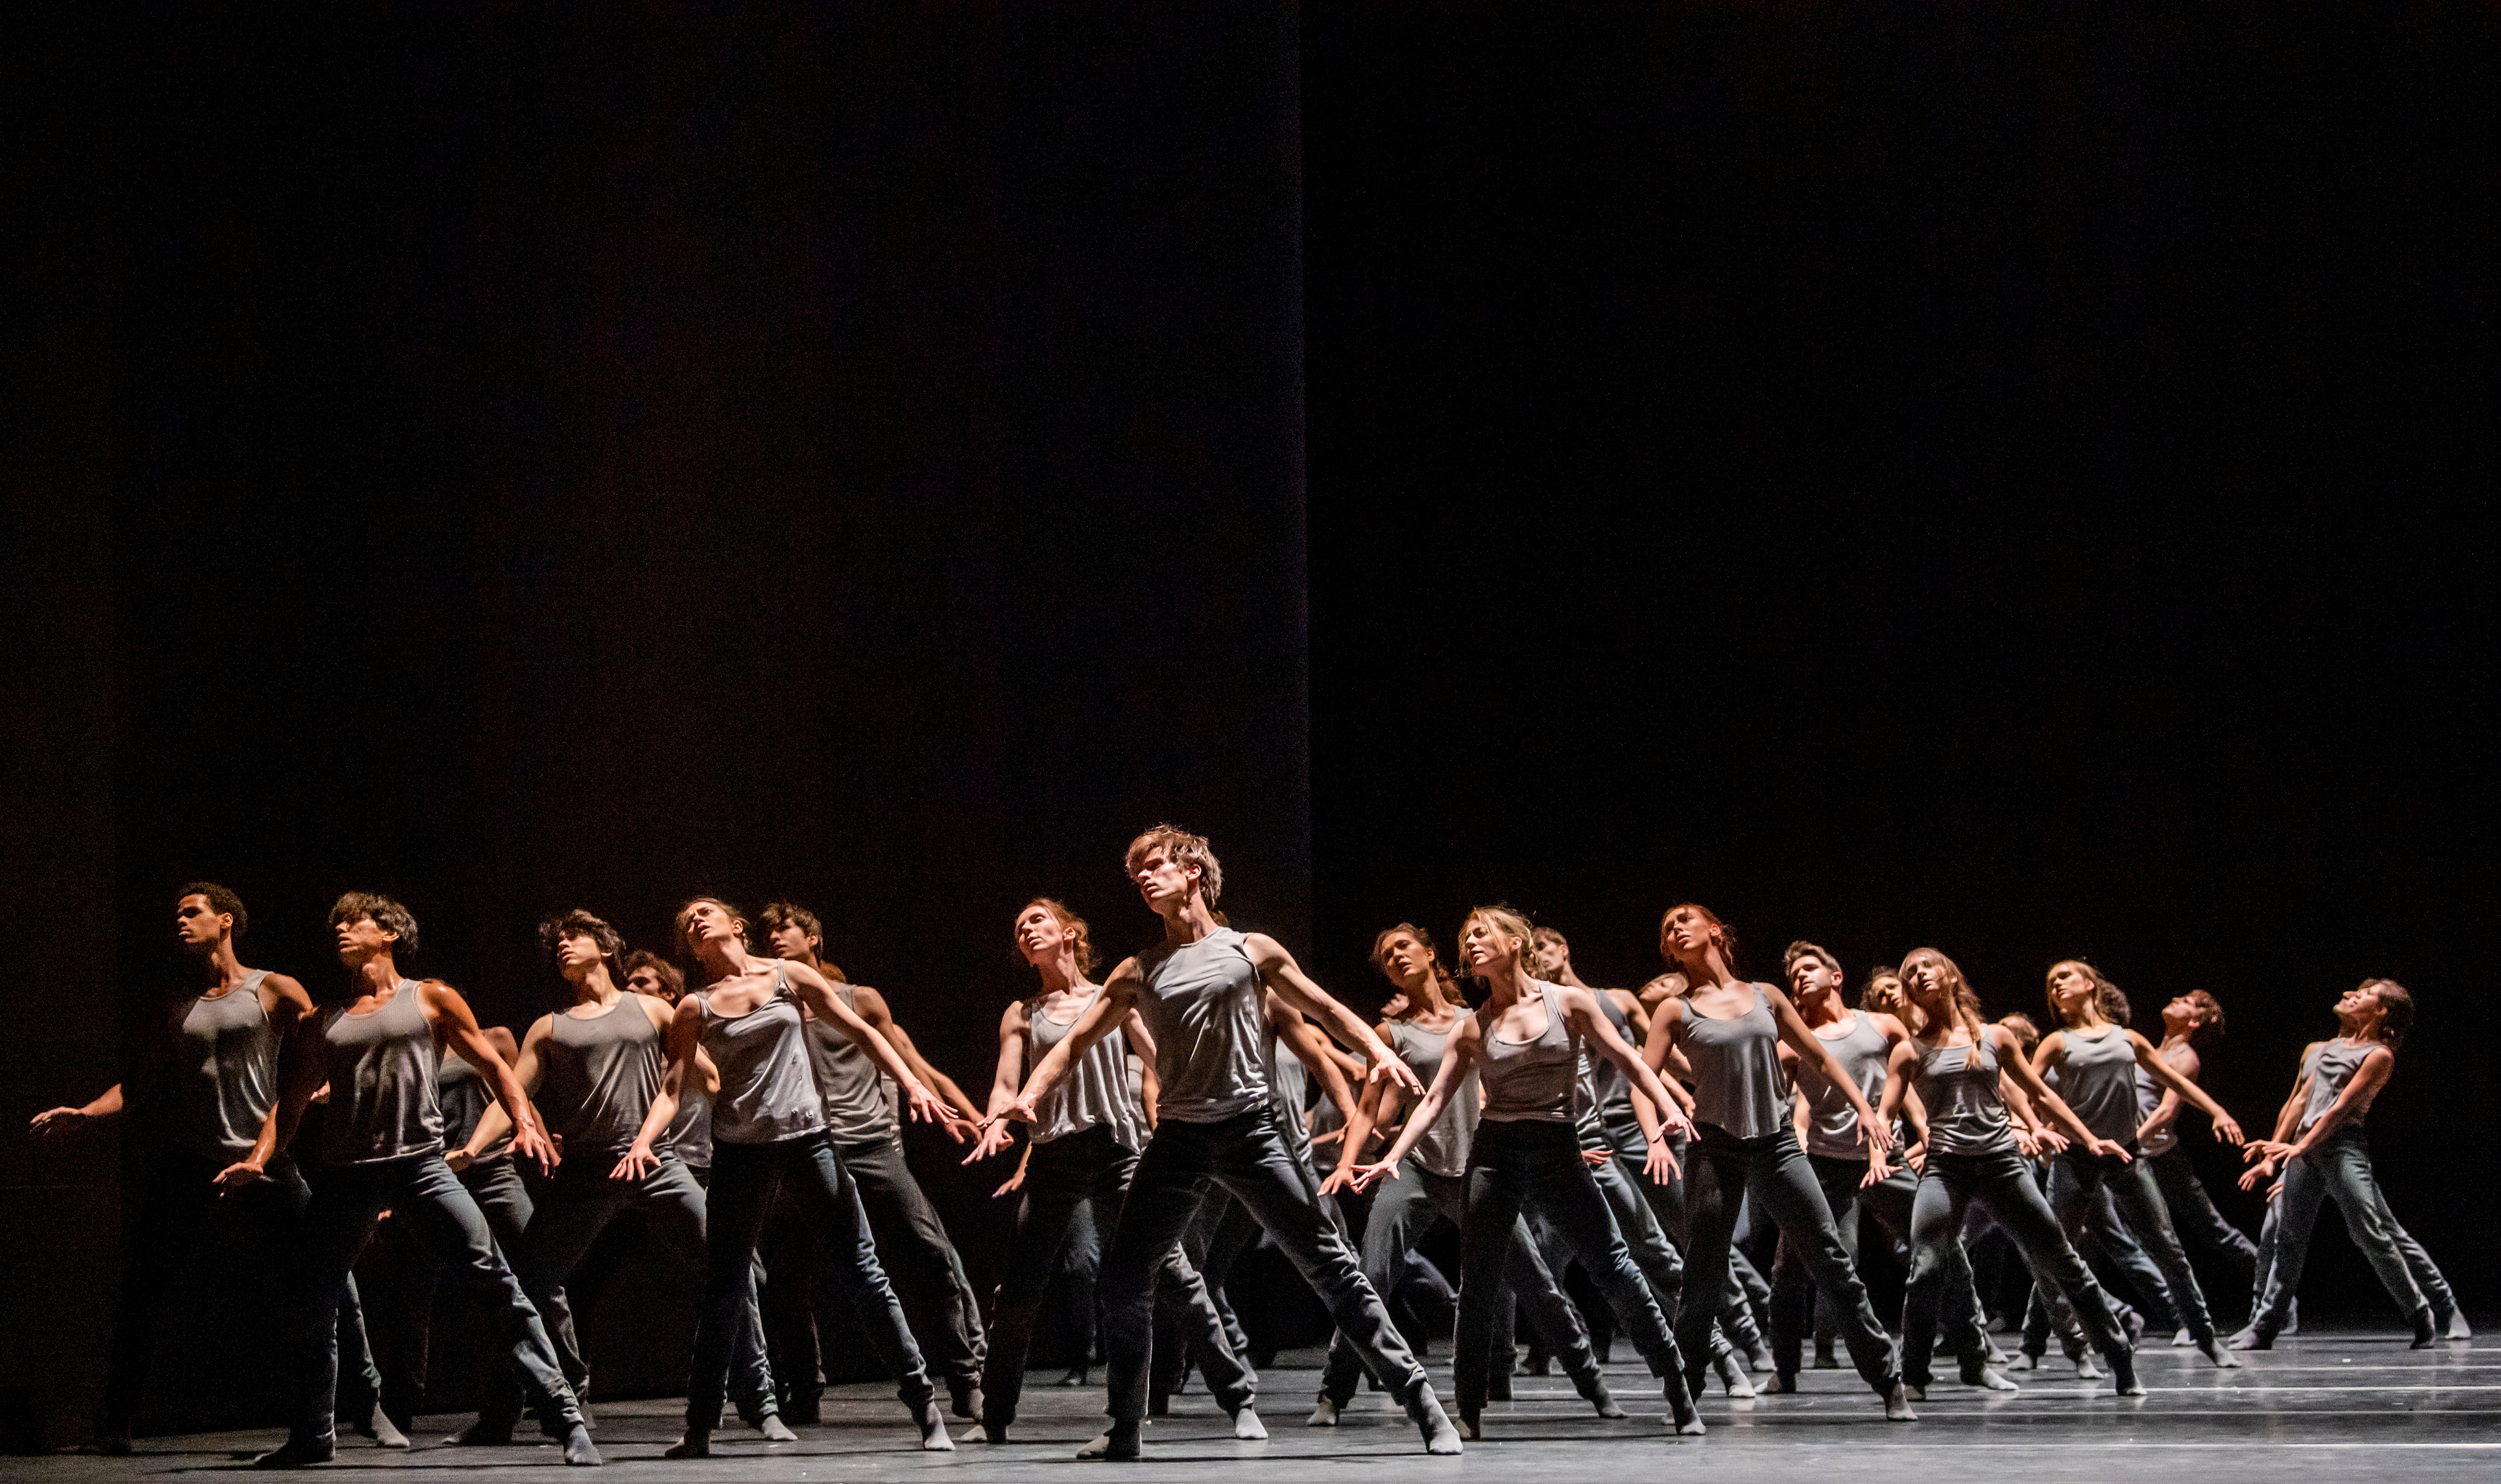
[[[1388,1294],[1406,1279],[1416,1259],[1416,1239],[1433,1219],[1468,1229],[1468,1176],[1428,1174],[1413,1159],[1398,1164],[1398,1174],[1373,1186],[1373,1211],[1363,1229],[1363,1274],[1373,1291]],[[1581,1384],[1598,1379],[1598,1354],[1588,1344],[1581,1311],[1563,1296],[1563,1281],[1528,1234],[1528,1221],[1513,1219],[1511,1249],[1503,1254],[1501,1281],[1493,1294],[1493,1316],[1486,1331],[1481,1366],[1498,1366],[1511,1374],[1511,1319],[1513,1299],[1528,1304],[1528,1321],[1546,1336],[1548,1351],[1563,1361],[1563,1371]],[[1466,1239],[1466,1236],[1463,1236]],[[1461,1294],[1466,1311],[1466,1291]],[[1328,1341],[1328,1366],[1321,1371],[1321,1396],[1338,1406],[1356,1399],[1356,1381],[1363,1376],[1363,1354],[1343,1334]]]

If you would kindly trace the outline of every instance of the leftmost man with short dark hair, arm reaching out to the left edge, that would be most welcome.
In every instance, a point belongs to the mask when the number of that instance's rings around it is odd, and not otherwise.
[[[135,1079],[138,1096],[113,1084],[93,1104],[35,1114],[35,1134],[58,1136],[83,1124],[120,1119],[135,1104],[155,1149],[140,1156],[138,1199],[128,1201],[123,1234],[123,1294],[113,1321],[113,1359],[105,1366],[105,1401],[95,1421],[95,1449],[130,1451],[130,1419],[148,1381],[155,1324],[168,1269],[200,1244],[200,1231],[223,1196],[228,1209],[275,1221],[293,1236],[313,1199],[293,1159],[245,1174],[270,1114],[278,1106],[278,1051],[285,1029],[313,1014],[303,983],[268,968],[245,968],[235,956],[250,913],[243,898],[215,881],[193,881],[175,893],[173,926],[190,956],[198,994],[180,1016],[160,1021],[158,1066]],[[383,1414],[383,1376],[365,1344],[365,1316],[355,1279],[340,1299],[340,1341],[358,1381],[348,1406],[350,1426],[385,1449],[405,1449],[408,1436]]]

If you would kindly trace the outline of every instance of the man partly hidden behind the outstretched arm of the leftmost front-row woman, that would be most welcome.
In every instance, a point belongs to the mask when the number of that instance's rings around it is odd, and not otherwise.
[[[788,963],[805,963],[833,981],[833,991],[843,1004],[895,1049],[903,1064],[913,1069],[913,1076],[968,1121],[980,1119],[965,1091],[930,1066],[920,1056],[920,1049],[913,1046],[913,1039],[903,1034],[885,996],[863,983],[848,983],[840,968],[820,958],[825,928],[813,911],[790,901],[770,901],[755,913],[755,921],[763,923],[775,956]],[[920,1191],[920,1181],[913,1179],[910,1166],[903,1161],[903,1126],[895,1121],[895,1106],[885,1096],[885,1079],[878,1076],[878,1064],[850,1036],[823,1021],[808,1024],[808,1061],[825,1094],[825,1131],[833,1139],[833,1154],[850,1171],[850,1181],[860,1191],[860,1206],[868,1209],[868,1229],[878,1241],[878,1261],[885,1264],[888,1279],[893,1279],[905,1309],[915,1316],[913,1334],[930,1336],[933,1354],[928,1359],[945,1376],[955,1416],[978,1421],[980,1299],[963,1271],[955,1241],[945,1234],[945,1221],[938,1219],[938,1206]],[[805,1226],[798,1231],[805,1234]],[[795,1281],[803,1291],[813,1289],[815,1259],[805,1236],[795,1244],[795,1251],[788,1256],[775,1254],[775,1259],[788,1269],[778,1274],[778,1281]],[[803,1321],[813,1319],[813,1301],[800,1304]],[[790,1376],[790,1384],[803,1391],[798,1401],[800,1411],[813,1416],[818,1406],[815,1386],[820,1384],[815,1346],[805,1344],[803,1349],[808,1351],[803,1369]]]

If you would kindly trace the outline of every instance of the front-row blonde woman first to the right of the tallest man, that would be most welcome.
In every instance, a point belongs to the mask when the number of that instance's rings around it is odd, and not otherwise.
[[[1606,1294],[1631,1331],[1651,1374],[1666,1384],[1671,1424],[1701,1434],[1686,1366],[1676,1354],[1666,1314],[1651,1294],[1633,1254],[1623,1246],[1606,1196],[1588,1176],[1573,1121],[1581,1046],[1596,1046],[1651,1099],[1656,1119],[1681,1124],[1676,1099],[1598,1011],[1586,988],[1546,983],[1526,973],[1533,951],[1528,918],[1508,906],[1481,906],[1458,931],[1468,968],[1486,981],[1486,1004],[1451,1031],[1431,1091],[1378,1164],[1361,1166],[1356,1184],[1371,1186],[1398,1174],[1398,1164],[1441,1126],[1441,1111],[1473,1071],[1483,1096],[1468,1149],[1468,1204],[1461,1219],[1456,1386],[1468,1436],[1481,1436],[1486,1411],[1486,1351],[1493,1339],[1493,1301],[1503,1269],[1521,1241],[1521,1209],[1536,1206],[1578,1244],[1581,1266]],[[1673,1169],[1666,1139],[1651,1121],[1651,1174]]]

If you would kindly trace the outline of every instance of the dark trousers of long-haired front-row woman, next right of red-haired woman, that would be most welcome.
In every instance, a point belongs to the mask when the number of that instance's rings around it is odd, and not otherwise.
[[[1971,1204],[1988,1209],[1998,1231],[2023,1254],[2033,1279],[2058,1291],[2106,1356],[2128,1351],[2111,1299],[2058,1229],[2031,1164],[2013,1146],[1996,1154],[1931,1151],[1928,1169],[1918,1176],[1918,1196],[1911,1201],[1911,1281],[1901,1304],[1901,1369],[1913,1386],[1928,1384],[1928,1356],[1936,1349],[1936,1324],[1953,1266],[1948,1254]]]

